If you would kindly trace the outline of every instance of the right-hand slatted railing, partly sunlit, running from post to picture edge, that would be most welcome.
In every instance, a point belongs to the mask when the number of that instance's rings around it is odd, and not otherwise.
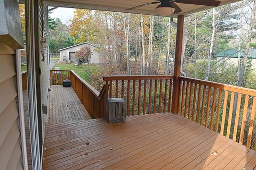
[[[182,116],[255,148],[256,90],[179,77]]]

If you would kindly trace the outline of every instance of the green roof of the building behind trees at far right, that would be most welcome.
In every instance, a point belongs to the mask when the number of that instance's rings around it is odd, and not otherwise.
[[[227,49],[219,54],[217,54],[217,57],[229,57],[229,58],[238,58],[239,50],[238,49]],[[244,57],[244,50],[241,50],[240,57]],[[248,58],[256,58],[256,48],[251,48],[249,50]]]

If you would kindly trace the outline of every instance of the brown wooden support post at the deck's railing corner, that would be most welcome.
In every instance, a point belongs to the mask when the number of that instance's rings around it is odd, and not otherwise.
[[[180,65],[183,45],[183,24],[184,15],[178,16],[177,23],[177,36],[176,36],[176,47],[175,47],[175,63],[174,63],[174,80],[173,80],[173,92],[172,92],[172,113],[179,113],[179,98],[180,98]]]

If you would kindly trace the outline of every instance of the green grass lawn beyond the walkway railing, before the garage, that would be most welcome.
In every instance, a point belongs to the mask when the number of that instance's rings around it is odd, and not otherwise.
[[[86,64],[83,67],[76,67],[73,64],[55,64],[54,67],[60,67],[60,70],[74,70],[81,78],[90,83],[90,76],[97,72],[99,66],[93,64]]]

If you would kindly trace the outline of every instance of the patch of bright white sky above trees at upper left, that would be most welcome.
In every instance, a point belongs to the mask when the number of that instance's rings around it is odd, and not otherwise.
[[[50,14],[51,18],[59,18],[62,23],[69,25],[70,20],[73,18],[75,8],[58,7]]]

